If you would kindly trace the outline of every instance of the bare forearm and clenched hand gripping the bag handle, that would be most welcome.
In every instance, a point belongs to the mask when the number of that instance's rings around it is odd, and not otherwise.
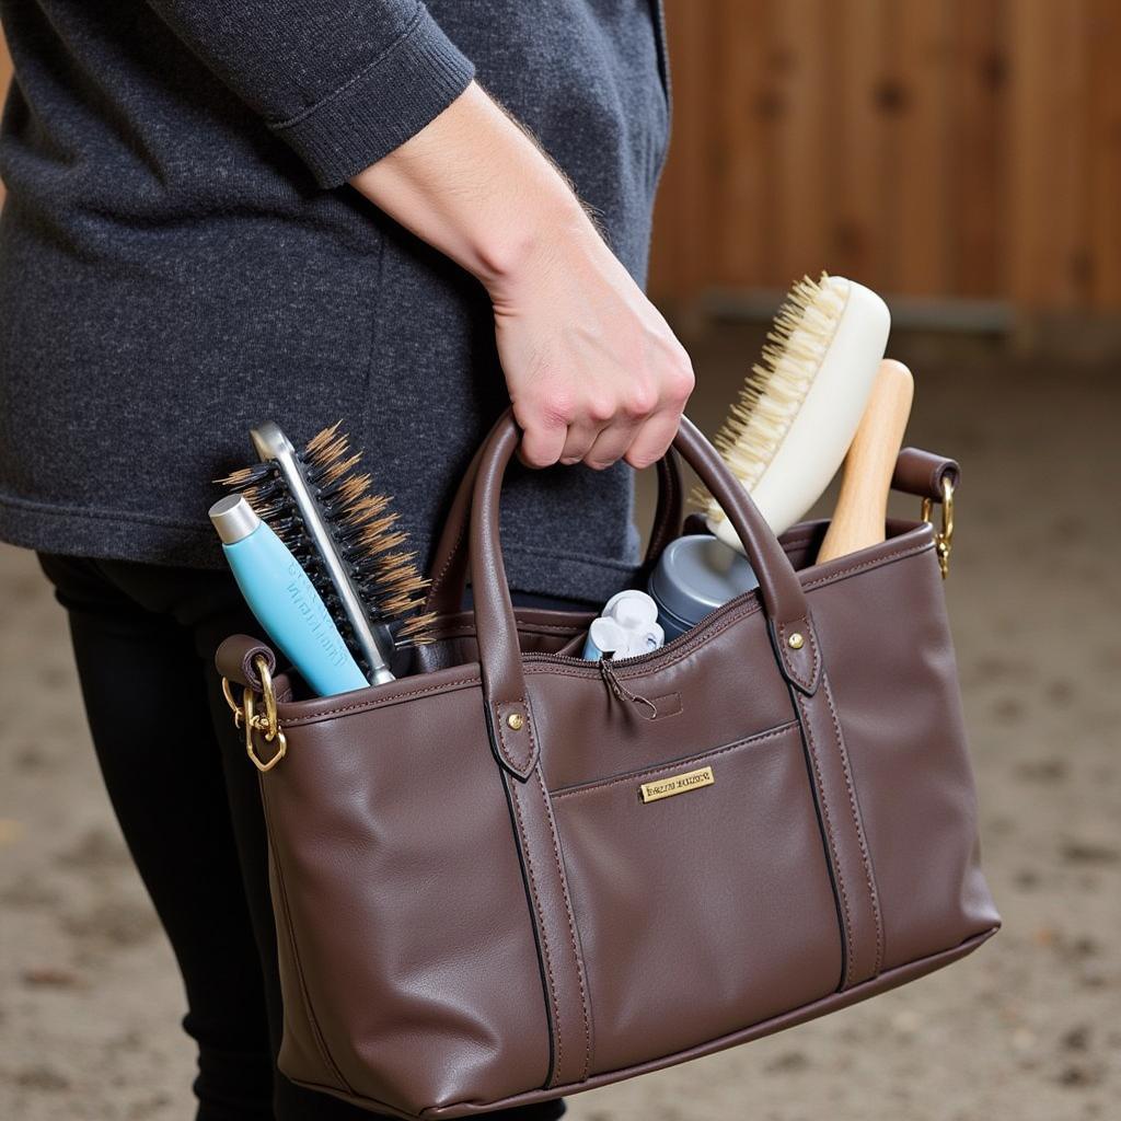
[[[693,391],[688,355],[566,177],[475,83],[351,184],[483,284],[530,466],[637,467]]]

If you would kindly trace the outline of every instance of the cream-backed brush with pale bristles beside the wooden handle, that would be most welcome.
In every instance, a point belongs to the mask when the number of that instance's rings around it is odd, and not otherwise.
[[[831,277],[794,286],[713,444],[776,534],[817,501],[849,451],[888,344],[888,307]],[[691,494],[708,528],[743,552],[723,510]]]

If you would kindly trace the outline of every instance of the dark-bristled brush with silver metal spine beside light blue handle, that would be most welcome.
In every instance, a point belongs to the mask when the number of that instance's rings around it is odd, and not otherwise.
[[[397,650],[430,642],[435,613],[418,613],[430,581],[416,567],[392,500],[359,470],[341,421],[297,451],[272,421],[250,430],[260,458],[216,482],[244,495],[315,585],[373,685],[391,682]]]

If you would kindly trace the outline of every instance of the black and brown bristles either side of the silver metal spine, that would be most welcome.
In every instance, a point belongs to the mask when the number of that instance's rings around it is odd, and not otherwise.
[[[359,473],[362,455],[350,451],[349,437],[339,430],[341,424],[336,420],[317,433],[298,453],[308,487],[371,622],[388,624],[393,620],[391,630],[398,647],[430,642],[436,614],[416,613],[424,604],[430,581],[417,569],[416,553],[400,548],[408,535],[393,528],[399,515],[391,509],[392,499],[373,492],[369,472]],[[243,494],[258,517],[288,546],[361,663],[351,627],[337,610],[337,594],[306,536],[277,465],[271,461],[254,463],[215,482]]]

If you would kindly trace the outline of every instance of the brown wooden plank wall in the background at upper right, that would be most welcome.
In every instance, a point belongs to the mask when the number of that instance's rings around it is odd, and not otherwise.
[[[1119,0],[666,0],[650,291],[1121,311]]]

